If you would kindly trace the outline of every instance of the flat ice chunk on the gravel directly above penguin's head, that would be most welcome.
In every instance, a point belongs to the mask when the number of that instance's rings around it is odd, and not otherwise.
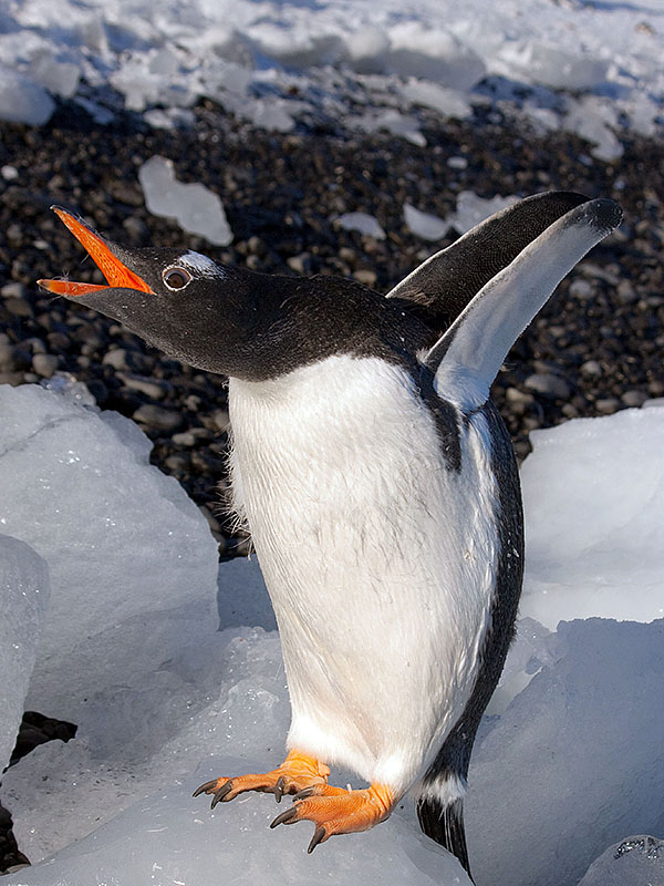
[[[183,230],[200,234],[215,246],[228,246],[232,231],[217,194],[200,184],[183,184],[173,162],[151,157],[138,171],[138,181],[151,213],[175,218]]]

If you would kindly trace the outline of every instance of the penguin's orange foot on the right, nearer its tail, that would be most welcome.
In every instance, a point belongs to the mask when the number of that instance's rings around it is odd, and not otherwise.
[[[396,796],[385,784],[372,784],[362,791],[344,791],[329,784],[311,785],[295,794],[290,810],[278,815],[270,827],[310,821],[315,825],[307,849],[312,853],[319,843],[334,834],[369,831],[390,817]]]

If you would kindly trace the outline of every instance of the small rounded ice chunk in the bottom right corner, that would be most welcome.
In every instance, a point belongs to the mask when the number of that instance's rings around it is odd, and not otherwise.
[[[664,886],[664,841],[621,839],[591,864],[579,886]]]

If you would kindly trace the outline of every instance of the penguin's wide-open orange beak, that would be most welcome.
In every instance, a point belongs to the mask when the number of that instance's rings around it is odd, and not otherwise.
[[[152,288],[129,270],[123,262],[111,251],[104,240],[95,234],[94,230],[89,228],[82,219],[76,218],[66,209],[61,206],[51,206],[51,209],[61,219],[61,222],[71,230],[74,237],[87,250],[89,255],[102,271],[107,280],[107,286],[100,286],[98,284],[77,284],[73,280],[38,280],[37,282],[53,292],[56,296],[66,296],[72,298],[75,296],[87,296],[91,292],[98,292],[102,289],[136,289],[139,292],[153,292]]]

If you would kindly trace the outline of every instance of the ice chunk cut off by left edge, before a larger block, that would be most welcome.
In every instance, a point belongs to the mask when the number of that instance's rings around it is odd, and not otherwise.
[[[0,772],[17,740],[49,594],[44,560],[24,542],[0,535]]]

